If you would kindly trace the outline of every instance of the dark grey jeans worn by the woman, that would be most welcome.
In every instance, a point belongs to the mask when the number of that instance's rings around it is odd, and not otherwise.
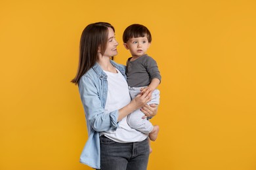
[[[136,143],[117,143],[104,135],[100,137],[101,170],[146,170],[148,139]]]

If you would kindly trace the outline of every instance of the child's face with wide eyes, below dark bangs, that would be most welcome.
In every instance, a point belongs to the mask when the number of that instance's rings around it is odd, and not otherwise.
[[[127,50],[130,50],[131,55],[133,57],[140,57],[146,54],[146,51],[148,50],[150,46],[150,42],[148,42],[148,39],[145,37],[137,37],[132,38],[127,41],[127,43],[123,44]]]

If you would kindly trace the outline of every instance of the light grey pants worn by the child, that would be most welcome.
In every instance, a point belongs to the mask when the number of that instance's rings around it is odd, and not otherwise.
[[[131,98],[135,98],[136,95],[140,93],[140,88],[131,88],[129,87],[129,92],[131,95]],[[154,90],[152,92],[152,99],[147,104],[158,104],[160,103],[160,91],[158,89]],[[140,111],[140,109],[135,110],[131,114],[127,116],[127,123],[130,127],[137,129],[138,131],[141,131],[142,133],[148,134],[152,131],[153,126],[152,124],[146,119],[142,119],[142,116],[145,116],[143,112]]]

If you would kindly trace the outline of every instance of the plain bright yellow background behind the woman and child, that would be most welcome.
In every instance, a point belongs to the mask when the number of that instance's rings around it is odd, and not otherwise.
[[[0,1],[0,169],[91,169],[74,78],[83,28],[144,24],[161,104],[148,169],[256,169],[256,1]]]

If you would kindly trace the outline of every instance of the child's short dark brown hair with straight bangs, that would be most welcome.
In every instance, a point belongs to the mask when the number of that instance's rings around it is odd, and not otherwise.
[[[129,39],[145,36],[147,36],[148,42],[152,41],[151,33],[147,27],[140,24],[129,25],[123,32],[123,42],[126,43]]]

